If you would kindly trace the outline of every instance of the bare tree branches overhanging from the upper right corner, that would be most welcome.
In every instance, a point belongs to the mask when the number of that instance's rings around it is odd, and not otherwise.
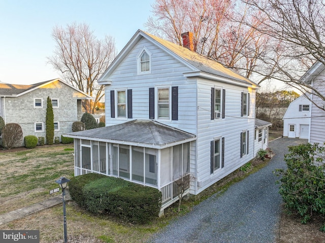
[[[282,43],[276,52],[277,58],[265,60],[266,65],[273,66],[275,70],[271,78],[325,100],[319,87],[300,79],[313,62],[320,61],[325,65],[325,1],[242,1],[249,4],[255,13],[263,12],[267,19],[255,28]],[[246,24],[250,25],[248,22]],[[263,72],[259,74],[264,75]]]

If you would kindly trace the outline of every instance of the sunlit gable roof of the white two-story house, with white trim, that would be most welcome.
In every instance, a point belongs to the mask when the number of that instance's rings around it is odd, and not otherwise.
[[[190,51],[183,46],[163,40],[140,29],[135,33],[132,39],[126,44],[123,50],[111,63],[107,71],[100,78],[99,83],[102,82],[103,84],[110,84],[110,80],[107,80],[107,77],[115,70],[117,65],[123,60],[127,53],[131,51],[142,38],[145,38],[149,42],[163,49],[168,54],[189,67],[190,72],[185,73],[185,77],[201,76],[219,81],[221,79],[224,82],[236,81],[238,85],[250,86],[252,88],[259,87],[256,83],[237,73],[230,67],[226,67],[207,56]]]

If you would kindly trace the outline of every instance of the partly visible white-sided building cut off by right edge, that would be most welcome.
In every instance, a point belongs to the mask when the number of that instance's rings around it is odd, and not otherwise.
[[[311,68],[301,77],[302,82],[310,84],[321,95],[325,96],[325,66],[316,61]],[[311,118],[309,129],[309,142],[325,143],[325,100],[311,94]],[[317,104],[317,106],[315,105]],[[320,109],[322,108],[322,109]]]

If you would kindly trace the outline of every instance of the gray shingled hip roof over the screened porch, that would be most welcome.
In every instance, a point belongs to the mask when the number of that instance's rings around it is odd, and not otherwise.
[[[112,126],[72,132],[64,136],[156,149],[168,148],[197,139],[192,133],[151,120],[133,120]]]

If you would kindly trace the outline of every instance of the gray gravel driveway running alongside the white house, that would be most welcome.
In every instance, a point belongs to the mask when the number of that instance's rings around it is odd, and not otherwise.
[[[272,171],[286,166],[287,146],[306,142],[294,138],[270,142],[276,155],[267,166],[193,207],[148,242],[275,242],[282,198]]]

